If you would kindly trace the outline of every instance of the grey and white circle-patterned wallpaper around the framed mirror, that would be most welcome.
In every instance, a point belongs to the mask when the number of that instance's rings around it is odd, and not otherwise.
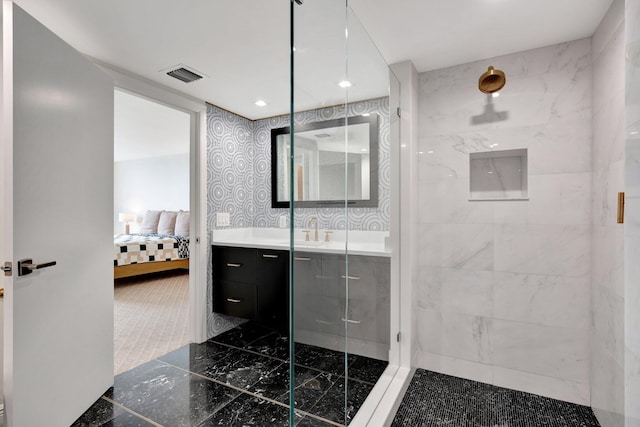
[[[320,228],[334,230],[389,229],[390,215],[390,126],[389,99],[379,98],[347,106],[347,115],[379,114],[378,207],[299,208],[295,226],[304,227],[316,217]],[[296,124],[344,117],[344,106],[326,107],[298,113]],[[207,232],[216,229],[216,212],[229,212],[232,228],[277,227],[280,215],[288,209],[271,208],[271,129],[289,125],[289,116],[251,121],[207,106]],[[210,248],[209,248],[210,251]],[[210,259],[209,253],[209,259]],[[207,279],[207,308],[212,313],[211,265]],[[212,313],[207,319],[208,336],[214,336],[241,323],[239,319]]]

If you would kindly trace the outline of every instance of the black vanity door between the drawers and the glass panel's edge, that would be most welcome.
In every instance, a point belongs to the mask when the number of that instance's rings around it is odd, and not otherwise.
[[[258,320],[278,329],[288,325],[289,252],[258,249]]]

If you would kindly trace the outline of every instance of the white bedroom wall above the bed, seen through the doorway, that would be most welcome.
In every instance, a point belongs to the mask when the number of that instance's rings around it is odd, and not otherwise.
[[[119,212],[189,210],[189,154],[115,162],[114,179],[114,233],[124,232]],[[138,228],[131,224],[131,232]]]

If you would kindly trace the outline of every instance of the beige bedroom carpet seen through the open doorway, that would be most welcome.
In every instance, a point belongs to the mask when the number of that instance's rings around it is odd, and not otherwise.
[[[116,375],[189,343],[189,274],[117,280],[114,318]]]

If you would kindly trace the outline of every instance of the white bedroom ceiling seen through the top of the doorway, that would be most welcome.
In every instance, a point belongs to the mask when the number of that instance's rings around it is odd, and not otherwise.
[[[187,113],[119,90],[113,128],[116,162],[189,153]]]

